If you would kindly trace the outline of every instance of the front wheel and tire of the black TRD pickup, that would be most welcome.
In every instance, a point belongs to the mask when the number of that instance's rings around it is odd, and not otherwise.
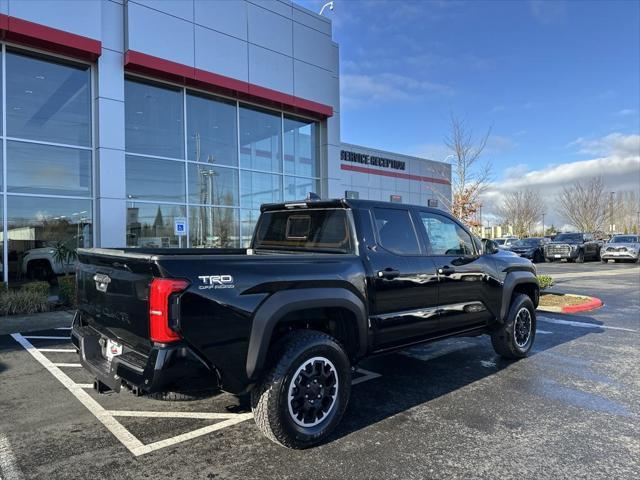
[[[526,312],[524,312],[526,310]],[[528,314],[529,325],[523,328]],[[522,316],[522,317],[520,317]],[[525,332],[528,331],[526,338]],[[536,310],[528,295],[517,293],[511,299],[504,324],[491,334],[496,353],[504,358],[519,359],[529,354],[536,336]]]

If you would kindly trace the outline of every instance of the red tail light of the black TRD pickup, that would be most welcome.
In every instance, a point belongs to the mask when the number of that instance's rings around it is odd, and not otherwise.
[[[171,295],[189,286],[186,280],[154,278],[149,289],[149,334],[151,340],[169,343],[180,340],[180,335],[169,325]]]

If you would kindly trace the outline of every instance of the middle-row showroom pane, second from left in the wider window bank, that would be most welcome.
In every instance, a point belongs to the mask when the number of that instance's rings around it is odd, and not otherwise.
[[[238,171],[189,164],[189,202],[204,205],[238,204]]]

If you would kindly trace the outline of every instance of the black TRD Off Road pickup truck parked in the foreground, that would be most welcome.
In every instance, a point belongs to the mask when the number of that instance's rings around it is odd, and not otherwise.
[[[314,445],[369,355],[489,334],[517,359],[536,333],[526,259],[450,215],[365,200],[264,205],[249,249],[79,250],[72,341],[99,390],[251,394],[271,440]]]

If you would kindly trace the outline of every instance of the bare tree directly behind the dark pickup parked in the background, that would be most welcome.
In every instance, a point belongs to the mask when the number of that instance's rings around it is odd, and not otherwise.
[[[607,207],[602,177],[578,180],[564,187],[558,195],[558,204],[558,213],[578,230],[590,233],[601,230]]]

